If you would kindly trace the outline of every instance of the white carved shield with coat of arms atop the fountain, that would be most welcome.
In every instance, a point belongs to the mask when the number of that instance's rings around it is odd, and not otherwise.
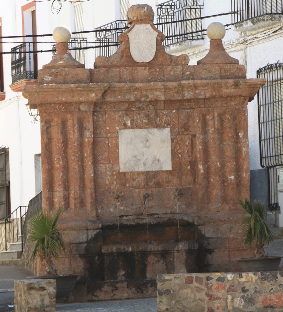
[[[135,25],[128,33],[131,56],[136,62],[148,63],[154,58],[157,35],[149,24]]]

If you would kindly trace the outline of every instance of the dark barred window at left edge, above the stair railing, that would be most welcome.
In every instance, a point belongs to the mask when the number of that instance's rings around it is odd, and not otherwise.
[[[0,220],[10,213],[9,209],[10,167],[9,149],[0,147]]]

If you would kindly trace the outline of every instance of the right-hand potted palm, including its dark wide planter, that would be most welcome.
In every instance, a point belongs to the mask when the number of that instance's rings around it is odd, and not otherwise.
[[[237,258],[242,271],[276,271],[278,270],[281,256],[267,256],[264,246],[268,246],[274,239],[274,234],[266,223],[266,210],[260,201],[253,204],[245,198],[238,203],[244,209],[242,214],[241,230],[244,245],[248,248],[254,247],[254,257]]]

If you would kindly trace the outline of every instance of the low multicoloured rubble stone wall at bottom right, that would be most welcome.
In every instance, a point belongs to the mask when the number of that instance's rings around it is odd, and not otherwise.
[[[283,272],[159,275],[157,287],[159,312],[281,312],[283,308]]]

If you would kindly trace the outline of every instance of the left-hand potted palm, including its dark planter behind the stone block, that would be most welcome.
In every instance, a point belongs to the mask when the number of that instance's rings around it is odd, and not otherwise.
[[[56,279],[56,300],[65,298],[73,290],[78,275],[57,275],[54,259],[65,251],[65,244],[58,230],[62,207],[56,213],[37,212],[27,223],[28,240],[34,242],[31,261],[39,258],[44,266],[44,276],[36,278]],[[32,277],[33,279],[35,277]]]

